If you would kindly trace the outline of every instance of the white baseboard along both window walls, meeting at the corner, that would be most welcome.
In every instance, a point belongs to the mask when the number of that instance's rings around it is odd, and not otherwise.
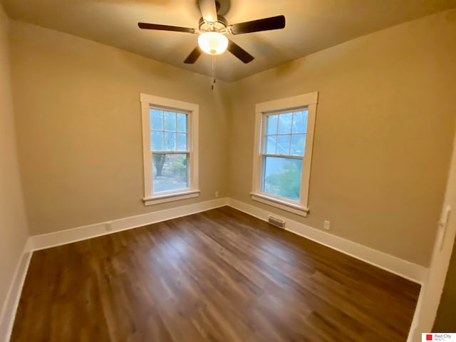
[[[29,250],[36,251],[38,249],[46,249],[49,247],[56,247],[62,244],[69,244],[92,237],[99,237],[101,235],[112,234],[113,232],[120,232],[125,229],[132,229],[135,227],[145,226],[156,222],[162,222],[167,219],[175,219],[197,212],[204,212],[205,210],[214,209],[229,205],[234,209],[246,212],[254,217],[263,221],[267,221],[269,212],[251,204],[240,202],[232,198],[218,198],[212,199],[207,202],[200,202],[190,204],[173,209],[160,210],[158,212],[150,212],[133,217],[125,217],[123,219],[115,219],[110,222],[101,222],[97,224],[90,224],[84,227],[77,227],[73,229],[66,229],[59,232],[52,232],[48,234],[34,235],[28,238]],[[110,230],[106,230],[106,225],[110,225]],[[405,279],[410,279],[419,284],[423,284],[427,276],[428,269],[418,264],[413,264],[410,261],[393,257],[390,254],[380,252],[376,249],[363,246],[351,240],[337,237],[334,234],[323,232],[320,229],[310,227],[306,224],[296,222],[291,219],[286,219],[286,229],[295,234],[311,239],[314,242],[323,244],[339,252],[348,254],[351,257],[366,261],[368,264],[385,269],[398,276],[403,276]]]

